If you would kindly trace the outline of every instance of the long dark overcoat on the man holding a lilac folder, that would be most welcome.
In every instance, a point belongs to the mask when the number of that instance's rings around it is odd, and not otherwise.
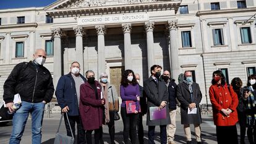
[[[153,77],[145,80],[144,83],[144,91],[147,97],[147,125],[168,125],[171,124],[170,116],[169,116],[169,108],[166,106],[166,119],[157,119],[150,121],[150,107],[159,107],[162,101],[168,100],[168,90],[166,88],[164,80],[161,78],[158,80],[158,83],[155,82]]]

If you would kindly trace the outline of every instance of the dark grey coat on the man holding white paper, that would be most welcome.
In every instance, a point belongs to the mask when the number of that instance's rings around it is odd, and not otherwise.
[[[181,103],[181,124],[201,124],[201,111],[199,103],[202,100],[202,93],[197,83],[192,83],[193,88],[193,100],[190,97],[189,85],[187,83],[179,83],[176,88],[177,99]],[[195,103],[197,108],[197,114],[187,114],[189,104]]]

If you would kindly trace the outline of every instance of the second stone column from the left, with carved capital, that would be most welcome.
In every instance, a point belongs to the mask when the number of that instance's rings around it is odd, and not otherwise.
[[[83,69],[83,27],[74,27],[75,31],[75,56],[80,64],[80,74],[84,75]]]

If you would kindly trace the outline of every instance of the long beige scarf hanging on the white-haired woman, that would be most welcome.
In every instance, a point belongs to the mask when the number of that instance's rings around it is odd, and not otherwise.
[[[109,119],[109,101],[108,101],[108,83],[106,83],[105,87],[103,87],[102,83],[101,83],[101,86],[102,86],[102,90],[103,91],[103,98],[105,98],[106,100],[106,103],[104,105],[105,107],[105,121],[103,121],[103,124],[107,124],[110,119]]]

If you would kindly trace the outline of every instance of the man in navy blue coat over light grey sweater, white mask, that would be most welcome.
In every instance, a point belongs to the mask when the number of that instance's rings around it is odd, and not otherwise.
[[[85,77],[80,73],[79,62],[72,62],[70,72],[59,78],[56,88],[56,97],[61,107],[61,112],[64,112],[69,117],[70,127],[73,135],[75,135],[75,123],[77,123],[77,143],[85,143],[85,130],[83,130],[81,117],[79,114],[80,101],[80,85],[86,82]],[[67,135],[72,136],[67,122],[67,117],[64,117],[67,129]]]

